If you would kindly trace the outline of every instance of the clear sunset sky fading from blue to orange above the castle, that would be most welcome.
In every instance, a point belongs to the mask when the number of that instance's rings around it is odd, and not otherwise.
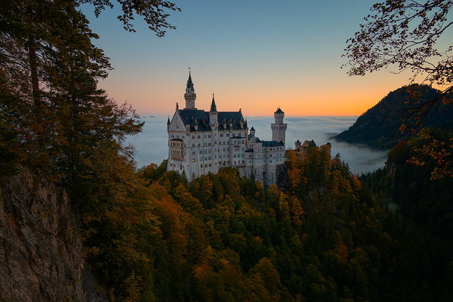
[[[198,109],[209,110],[214,93],[219,111],[241,108],[244,117],[273,117],[277,107],[286,117],[357,116],[409,84],[407,73],[348,77],[341,69],[346,40],[376,0],[173,2],[181,9],[169,11],[176,29],[161,38],[139,16],[137,32],[126,32],[118,4],[99,18],[81,6],[114,67],[99,87],[142,116],[172,117],[176,102],[185,107],[189,67]]]

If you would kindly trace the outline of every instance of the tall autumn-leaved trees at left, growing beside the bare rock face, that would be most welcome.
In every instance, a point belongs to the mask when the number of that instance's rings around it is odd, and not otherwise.
[[[159,37],[174,28],[162,9],[177,8],[167,1],[118,2],[129,31],[133,12]],[[108,0],[0,1],[0,175],[28,159],[60,180],[79,209],[93,274],[115,300],[137,301],[140,287],[150,286],[143,238],[158,221],[124,140],[143,123],[97,87],[110,63],[92,43],[98,36],[78,9],[83,3],[96,14],[112,7]]]

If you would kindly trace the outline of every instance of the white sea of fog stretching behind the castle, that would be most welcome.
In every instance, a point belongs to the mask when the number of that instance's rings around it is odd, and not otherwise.
[[[168,117],[142,117],[145,122],[143,132],[127,138],[136,147],[134,159],[137,166],[147,166],[151,163],[159,165],[166,159],[169,152],[166,122]],[[296,140],[315,140],[316,145],[332,144],[331,155],[340,154],[341,159],[348,162],[353,173],[373,171],[382,168],[387,159],[386,151],[374,151],[365,145],[351,145],[337,142],[331,137],[341,133],[352,125],[357,117],[285,117],[288,124],[286,147],[294,149]],[[254,126],[255,135],[261,140],[272,140],[270,124],[273,117],[247,117],[249,129]]]

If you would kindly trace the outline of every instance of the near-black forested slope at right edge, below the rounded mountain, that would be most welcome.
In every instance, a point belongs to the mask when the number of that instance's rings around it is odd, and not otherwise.
[[[442,239],[451,239],[453,236],[453,178],[450,175],[433,178],[439,159],[420,155],[417,150],[432,146],[433,140],[436,140],[445,142],[442,148],[452,152],[448,145],[451,138],[452,133],[433,131],[407,143],[401,141],[388,153],[385,169],[361,178],[379,199],[391,206],[398,206],[403,216],[424,225],[433,236]],[[414,157],[424,164],[414,164]],[[448,156],[445,160],[451,162]]]

